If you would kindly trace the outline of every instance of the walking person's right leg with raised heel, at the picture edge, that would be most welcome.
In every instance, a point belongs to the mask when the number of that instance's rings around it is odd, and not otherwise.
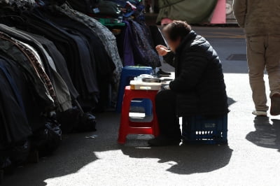
[[[265,52],[266,68],[269,78],[270,98],[272,101],[270,113],[280,115],[280,36],[267,37]]]

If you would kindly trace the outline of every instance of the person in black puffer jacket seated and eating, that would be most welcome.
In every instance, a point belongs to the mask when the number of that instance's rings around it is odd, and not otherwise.
[[[175,67],[175,79],[155,97],[160,136],[151,146],[179,145],[179,117],[228,113],[223,69],[216,51],[186,22],[174,21],[163,29],[169,48],[156,50]]]

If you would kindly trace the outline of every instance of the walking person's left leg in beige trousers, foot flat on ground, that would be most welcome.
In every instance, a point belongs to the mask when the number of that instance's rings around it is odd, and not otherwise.
[[[255,115],[266,115],[268,110],[265,93],[265,36],[246,38],[249,80],[255,103]]]

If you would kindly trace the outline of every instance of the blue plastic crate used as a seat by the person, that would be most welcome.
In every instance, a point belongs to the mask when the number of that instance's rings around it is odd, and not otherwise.
[[[228,144],[228,114],[215,117],[183,117],[184,143]]]

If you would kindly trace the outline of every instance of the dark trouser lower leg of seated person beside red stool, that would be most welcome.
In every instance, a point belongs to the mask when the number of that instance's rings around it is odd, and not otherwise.
[[[160,127],[160,136],[174,140],[181,139],[179,117],[176,113],[176,93],[162,90],[155,97],[156,113]]]

